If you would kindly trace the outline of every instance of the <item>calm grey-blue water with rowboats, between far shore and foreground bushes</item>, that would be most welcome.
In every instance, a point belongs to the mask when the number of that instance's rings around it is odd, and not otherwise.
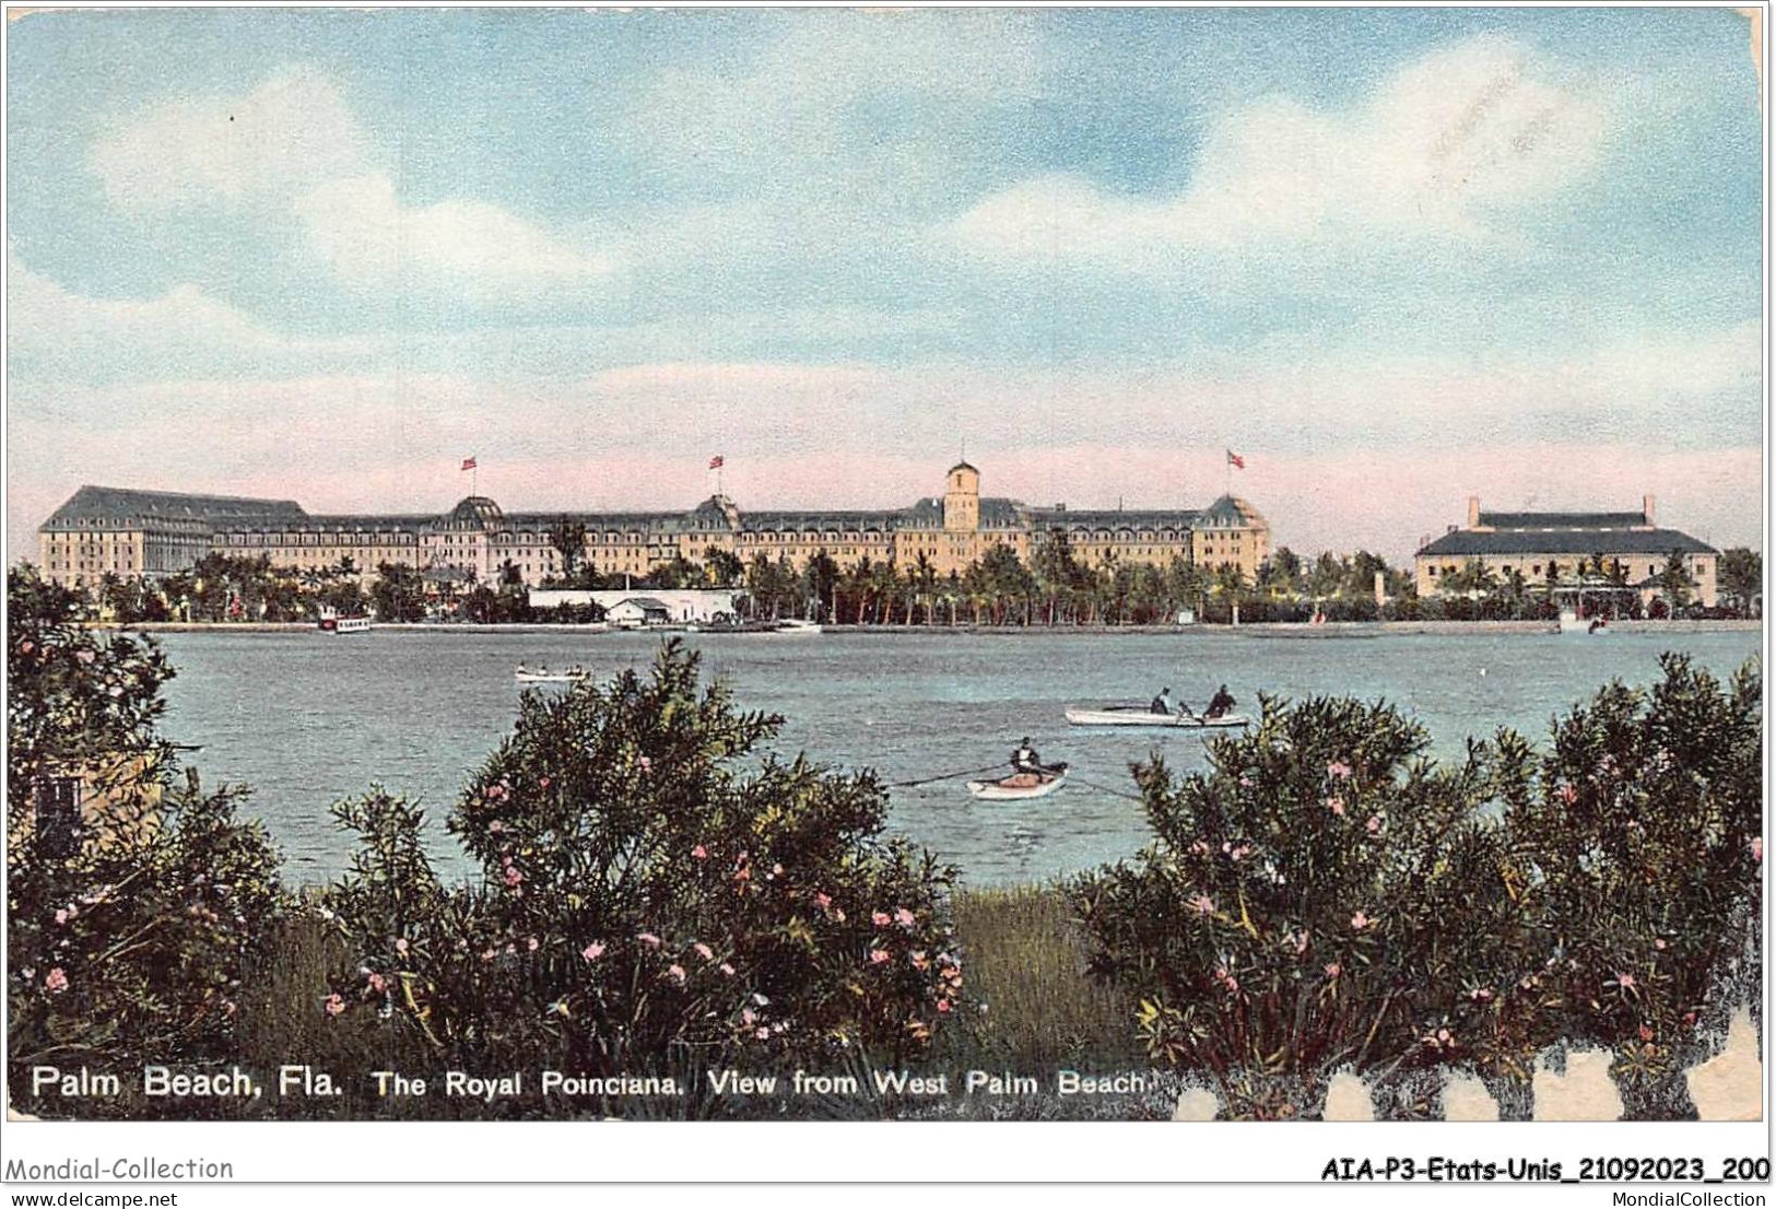
[[[282,845],[289,877],[327,881],[346,836],[327,806],[373,781],[421,797],[435,824],[467,774],[508,731],[519,660],[579,662],[599,676],[645,664],[639,634],[375,630],[327,634],[165,634],[179,675],[165,730],[201,744],[206,779],[254,786],[247,810]],[[1385,698],[1424,723],[1439,751],[1510,724],[1533,737],[1549,717],[1613,676],[1648,684],[1664,650],[1687,650],[1726,675],[1758,652],[1755,632],[1380,637],[1137,636],[687,636],[705,671],[726,676],[746,708],[783,714],[780,749],[826,763],[872,765],[909,781],[1005,760],[1030,735],[1074,778],[1128,790],[1128,765],[1160,749],[1197,767],[1202,739],[1165,731],[1073,730],[1069,703],[1147,699],[1169,685],[1202,707],[1222,682],[1241,708],[1257,691]],[[545,689],[552,691],[552,689]],[[961,866],[971,884],[1043,881],[1133,854],[1147,840],[1140,804],[1085,785],[1030,802],[977,802],[961,781],[893,790],[890,822]],[[437,827],[433,850],[467,872]]]

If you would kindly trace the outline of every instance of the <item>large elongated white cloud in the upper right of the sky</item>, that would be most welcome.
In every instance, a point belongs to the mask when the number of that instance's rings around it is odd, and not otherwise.
[[[1604,107],[1550,76],[1517,43],[1469,39],[1348,110],[1270,96],[1218,117],[1176,195],[1044,176],[984,197],[947,234],[987,256],[1131,270],[1277,245],[1488,238],[1499,211],[1558,195],[1595,167]]]

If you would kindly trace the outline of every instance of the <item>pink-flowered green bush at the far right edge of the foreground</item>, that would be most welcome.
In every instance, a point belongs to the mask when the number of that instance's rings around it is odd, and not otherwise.
[[[1614,1049],[1630,1097],[1707,1056],[1733,992],[1762,1000],[1762,676],[1662,668],[1652,691],[1611,684],[1556,719],[1504,806],[1549,1031]]]

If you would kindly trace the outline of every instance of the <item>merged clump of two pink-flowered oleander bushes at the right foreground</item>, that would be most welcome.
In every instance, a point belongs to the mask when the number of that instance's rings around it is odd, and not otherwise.
[[[1442,767],[1398,710],[1314,698],[1265,699],[1202,772],[1138,765],[1154,843],[1069,888],[1094,976],[1234,1115],[1311,1113],[1339,1069],[1520,1088],[1566,1042],[1673,1115],[1701,1026],[1760,987],[1762,714],[1755,666],[1662,666],[1543,755],[1504,730]]]

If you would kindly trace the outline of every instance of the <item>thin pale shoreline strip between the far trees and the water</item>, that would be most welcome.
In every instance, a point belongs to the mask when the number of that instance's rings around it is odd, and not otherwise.
[[[313,621],[89,621],[94,630],[126,630],[133,634],[321,634]],[[648,627],[614,630],[606,627],[572,625],[561,621],[511,623],[435,623],[435,621],[378,621],[377,630],[410,634],[689,634],[696,637],[771,637],[771,634],[726,634],[721,630],[687,630],[684,627]],[[1732,634],[1762,630],[1762,620],[1749,618],[1694,618],[1675,621],[1613,621],[1618,634]],[[1339,639],[1380,637],[1384,634],[1558,634],[1556,621],[1247,621],[1243,625],[824,625],[826,634],[895,634],[902,637],[943,637],[954,634],[993,636],[1064,636],[1064,634],[1215,634],[1225,637],[1289,637]]]

